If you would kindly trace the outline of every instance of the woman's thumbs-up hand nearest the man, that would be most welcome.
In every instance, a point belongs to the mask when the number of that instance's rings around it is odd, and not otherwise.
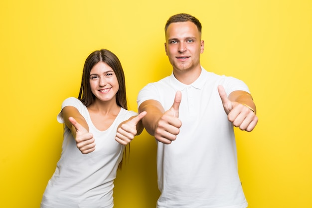
[[[140,113],[138,116],[126,122],[123,122],[120,125],[120,127],[117,129],[115,140],[122,145],[127,145],[128,143],[130,143],[138,133],[138,130],[137,130],[138,123],[146,114],[147,112],[144,111]]]

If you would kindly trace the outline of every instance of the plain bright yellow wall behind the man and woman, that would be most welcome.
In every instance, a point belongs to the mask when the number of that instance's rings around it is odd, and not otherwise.
[[[89,53],[120,58],[137,111],[139,90],[171,73],[163,27],[179,12],[203,25],[203,67],[244,80],[256,102],[256,129],[235,129],[249,208],[312,208],[311,0],[2,0],[0,207],[39,207],[61,152],[56,115],[78,96]],[[115,185],[116,208],[155,207],[146,131]]]

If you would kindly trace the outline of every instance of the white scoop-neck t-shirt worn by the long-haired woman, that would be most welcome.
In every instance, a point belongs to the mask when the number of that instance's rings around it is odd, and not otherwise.
[[[40,208],[113,208],[114,179],[125,146],[115,141],[118,125],[136,116],[134,111],[121,108],[113,124],[99,131],[92,123],[88,109],[77,98],[62,103],[78,109],[94,136],[95,151],[82,154],[76,146],[71,130],[64,128],[61,158],[43,194]],[[64,123],[62,113],[57,116]]]

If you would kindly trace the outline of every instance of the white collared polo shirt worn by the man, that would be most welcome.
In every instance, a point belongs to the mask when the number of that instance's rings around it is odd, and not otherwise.
[[[217,87],[227,94],[249,92],[236,78],[216,75],[202,68],[190,85],[173,73],[145,86],[138,106],[153,99],[168,110],[176,91],[182,92],[180,133],[169,145],[157,142],[157,177],[161,195],[157,208],[246,208],[237,169],[233,125],[228,121]]]

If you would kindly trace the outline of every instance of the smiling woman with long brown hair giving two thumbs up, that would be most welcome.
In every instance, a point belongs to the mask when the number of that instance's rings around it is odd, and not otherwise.
[[[62,103],[65,123],[61,158],[40,208],[113,208],[113,187],[125,146],[143,131],[138,115],[127,110],[125,76],[109,50],[85,61],[78,99]]]

